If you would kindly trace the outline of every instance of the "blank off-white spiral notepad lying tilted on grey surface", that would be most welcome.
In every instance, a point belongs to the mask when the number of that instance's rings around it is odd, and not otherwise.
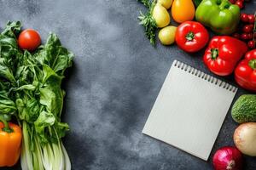
[[[175,60],[143,133],[207,161],[236,90]]]

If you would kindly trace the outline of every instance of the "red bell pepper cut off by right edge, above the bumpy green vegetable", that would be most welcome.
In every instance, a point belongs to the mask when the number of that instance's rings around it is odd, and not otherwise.
[[[242,88],[256,92],[256,49],[247,52],[236,66],[235,79]]]

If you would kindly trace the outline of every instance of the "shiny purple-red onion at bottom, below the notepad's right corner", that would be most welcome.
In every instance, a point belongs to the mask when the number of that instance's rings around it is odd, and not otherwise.
[[[241,170],[241,151],[232,146],[220,148],[213,156],[213,167],[215,170]]]

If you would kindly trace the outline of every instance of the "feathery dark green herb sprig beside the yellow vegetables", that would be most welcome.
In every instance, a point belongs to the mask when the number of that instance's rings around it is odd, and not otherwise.
[[[145,7],[148,8],[148,11],[143,14],[142,11],[140,11],[140,15],[138,16],[138,19],[140,20],[139,24],[144,27],[145,35],[148,37],[150,43],[155,46],[155,31],[157,29],[156,22],[152,16],[155,1],[150,0],[138,0],[140,3],[143,3]]]

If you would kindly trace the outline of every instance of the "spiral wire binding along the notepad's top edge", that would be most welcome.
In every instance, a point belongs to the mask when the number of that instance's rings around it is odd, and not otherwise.
[[[186,65],[181,61],[174,60],[173,65],[176,66],[177,68],[183,70],[183,71],[189,72],[190,74],[194,75],[195,77],[202,78],[202,79],[204,79],[208,82],[211,82],[212,84],[218,85],[221,88],[225,88],[227,90],[230,90],[230,92],[235,93],[236,90],[237,90],[237,88],[235,86],[232,86],[227,82],[223,82],[223,81],[219,80],[216,77],[212,77],[212,76],[208,75],[207,73],[205,73],[203,71],[199,71],[199,70],[195,69],[194,67],[192,67],[190,65]]]

